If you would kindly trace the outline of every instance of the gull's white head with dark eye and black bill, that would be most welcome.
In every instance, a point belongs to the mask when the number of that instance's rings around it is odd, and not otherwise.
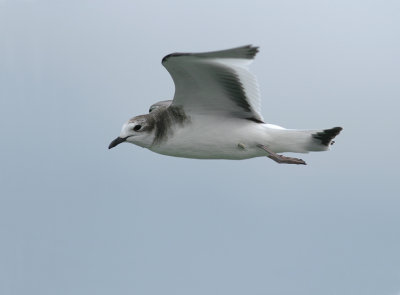
[[[120,135],[110,143],[108,148],[111,149],[125,141],[148,148],[154,139],[153,129],[154,119],[151,116],[136,116],[122,126]]]

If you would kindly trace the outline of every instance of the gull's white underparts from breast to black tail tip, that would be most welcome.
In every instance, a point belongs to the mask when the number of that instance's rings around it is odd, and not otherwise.
[[[312,149],[310,137],[314,131],[277,127],[279,126],[256,124],[237,118],[193,115],[191,124],[184,128],[176,127],[173,136],[150,149],[169,156],[199,159],[248,159],[265,156],[265,152],[258,147],[259,144],[268,146],[276,153],[307,153]]]

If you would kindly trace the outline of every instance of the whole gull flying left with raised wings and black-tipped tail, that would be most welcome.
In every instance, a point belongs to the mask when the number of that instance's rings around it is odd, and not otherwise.
[[[277,163],[302,159],[280,153],[326,151],[341,127],[286,129],[266,123],[256,77],[248,67],[258,47],[172,53],[162,59],[174,84],[173,100],[153,104],[128,120],[109,149],[123,142],[194,159],[241,160],[266,156]]]

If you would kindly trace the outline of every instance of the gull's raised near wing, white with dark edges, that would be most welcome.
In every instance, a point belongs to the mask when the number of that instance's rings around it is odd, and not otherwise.
[[[172,53],[162,60],[175,83],[174,106],[187,113],[234,116],[262,122],[256,78],[248,65],[258,48]]]

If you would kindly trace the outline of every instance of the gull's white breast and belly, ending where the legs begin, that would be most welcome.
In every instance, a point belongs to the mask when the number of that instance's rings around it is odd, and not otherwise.
[[[197,116],[191,118],[191,123],[177,126],[166,141],[150,150],[184,158],[248,159],[265,156],[257,144],[263,144],[267,137],[265,124]]]

